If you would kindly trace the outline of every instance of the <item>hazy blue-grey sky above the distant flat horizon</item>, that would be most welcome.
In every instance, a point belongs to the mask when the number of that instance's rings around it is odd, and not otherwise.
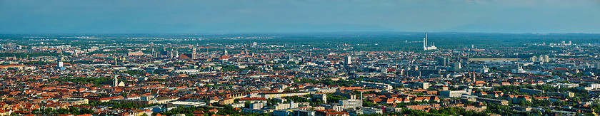
[[[600,0],[0,0],[0,33],[600,33]]]

